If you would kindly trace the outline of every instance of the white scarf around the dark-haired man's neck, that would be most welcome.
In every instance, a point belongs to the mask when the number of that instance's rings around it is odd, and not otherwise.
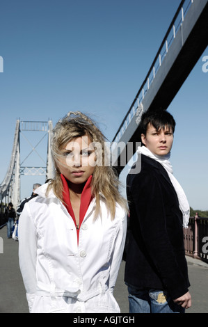
[[[137,152],[140,154],[144,154],[145,156],[158,161],[166,169],[168,176],[170,178],[170,181],[173,184],[173,187],[177,193],[177,198],[179,201],[179,209],[181,210],[181,212],[183,214],[183,227],[188,228],[189,217],[190,217],[189,202],[186,198],[186,194],[184,193],[184,190],[182,189],[182,186],[180,186],[179,182],[177,182],[176,178],[173,176],[173,168],[169,161],[170,152],[168,154],[166,154],[165,156],[157,156],[156,154],[153,154],[145,146],[138,147]]]

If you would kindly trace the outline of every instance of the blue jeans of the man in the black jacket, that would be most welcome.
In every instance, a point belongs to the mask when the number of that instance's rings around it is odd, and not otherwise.
[[[158,289],[138,290],[128,286],[129,313],[184,313],[181,305],[177,305],[163,292]]]

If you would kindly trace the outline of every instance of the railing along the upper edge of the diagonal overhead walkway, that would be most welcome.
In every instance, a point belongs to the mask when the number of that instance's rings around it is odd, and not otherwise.
[[[163,41],[161,42],[161,46],[157,51],[157,55],[154,58],[150,70],[149,72],[147,72],[147,76],[145,77],[145,80],[143,81],[141,88],[138,90],[138,93],[134,101],[132,102],[129,111],[125,115],[125,118],[122,120],[122,123],[117,133],[115,134],[112,143],[119,142],[120,138],[122,137],[122,134],[124,134],[125,130],[127,129],[134,115],[135,114],[138,115],[142,111],[141,103],[147,91],[149,90],[151,83],[154,81],[154,77],[156,76],[159,67],[161,67],[163,59],[168,53],[168,50],[170,49],[170,45],[175,39],[175,36],[177,35],[177,32],[179,31],[179,27],[181,26],[182,22],[184,22],[184,17],[186,16],[186,13],[189,11],[189,8],[191,7],[193,1],[194,0],[182,0],[181,3],[179,4],[179,7],[177,8],[177,12],[175,13],[175,16],[173,17],[173,20],[168,28],[168,31],[166,32],[166,35],[163,38]]]

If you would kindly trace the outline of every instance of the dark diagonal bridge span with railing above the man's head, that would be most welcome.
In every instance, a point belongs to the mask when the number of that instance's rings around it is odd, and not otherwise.
[[[207,2],[183,0],[179,4],[150,70],[111,143],[112,164],[118,174],[141,141],[138,125],[142,113],[160,108],[166,110],[205,51],[208,44]]]

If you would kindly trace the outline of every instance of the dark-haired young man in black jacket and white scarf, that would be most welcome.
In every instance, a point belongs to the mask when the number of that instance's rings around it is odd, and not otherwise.
[[[168,160],[174,130],[175,120],[167,111],[143,113],[141,172],[127,176],[130,313],[183,313],[191,306],[183,237],[189,202]]]

